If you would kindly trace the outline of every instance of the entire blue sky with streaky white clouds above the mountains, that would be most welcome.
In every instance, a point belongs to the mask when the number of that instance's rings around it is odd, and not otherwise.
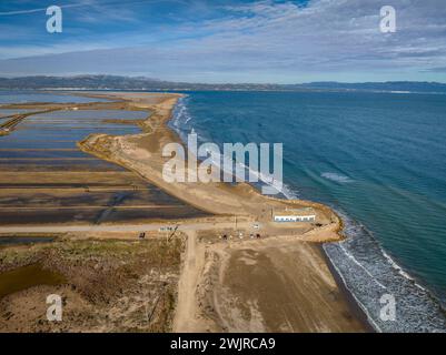
[[[47,31],[49,6],[62,9],[61,33]],[[446,1],[0,1],[0,75],[40,74],[446,82]]]

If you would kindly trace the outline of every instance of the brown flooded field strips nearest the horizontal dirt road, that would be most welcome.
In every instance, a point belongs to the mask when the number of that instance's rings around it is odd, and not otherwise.
[[[23,176],[21,183],[4,176],[0,183],[0,225],[133,223],[206,215],[132,173],[106,175],[46,173],[46,179],[33,182]]]

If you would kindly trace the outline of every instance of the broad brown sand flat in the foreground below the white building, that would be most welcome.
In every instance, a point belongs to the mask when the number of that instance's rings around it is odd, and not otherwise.
[[[199,292],[212,331],[364,331],[315,244],[267,239],[211,250]]]

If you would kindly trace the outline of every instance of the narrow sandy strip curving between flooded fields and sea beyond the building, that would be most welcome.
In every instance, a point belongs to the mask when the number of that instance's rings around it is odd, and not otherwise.
[[[108,93],[105,95],[106,98],[117,98],[119,94]],[[339,230],[341,227],[340,219],[337,214],[328,206],[305,200],[284,200],[271,196],[262,195],[257,189],[251,186],[249,183],[237,183],[234,186],[228,186],[225,183],[215,183],[215,184],[204,184],[204,183],[176,183],[169,184],[163,182],[162,176],[160,174],[162,163],[167,161],[167,159],[162,159],[160,156],[160,149],[163,144],[170,142],[178,142],[184,144],[180,136],[177,132],[174,132],[169,126],[168,122],[171,120],[172,111],[177,103],[178,98],[181,98],[181,94],[166,94],[170,98],[167,99],[167,102],[161,102],[158,104],[146,104],[143,99],[137,99],[137,101],[132,101],[131,93],[127,93],[128,104],[132,104],[138,109],[146,108],[151,110],[153,113],[150,115],[148,120],[146,120],[142,124],[141,134],[133,135],[122,135],[122,136],[111,136],[107,134],[90,134],[87,139],[78,143],[78,146],[90,154],[97,155],[101,159],[106,159],[108,161],[118,163],[125,168],[138,171],[140,174],[150,180],[152,183],[156,183],[159,187],[170,192],[171,194],[178,194],[178,197],[182,197],[187,202],[194,204],[195,201],[198,201],[198,205],[204,209],[206,212],[211,212],[215,214],[240,214],[240,215],[250,215],[254,214],[259,220],[265,220],[268,216],[259,215],[259,207],[256,206],[258,203],[268,203],[271,207],[287,207],[287,206],[300,206],[300,207],[313,207],[316,210],[318,214],[318,220],[324,227],[324,235],[320,235],[319,242],[326,241],[337,241],[341,240],[343,236],[339,234]],[[98,94],[96,94],[98,97]],[[139,100],[142,100],[140,102]],[[138,154],[142,154],[142,150],[148,152],[147,156],[143,156],[145,166],[138,163]],[[128,153],[135,153],[133,155],[129,155]],[[149,160],[150,158],[150,160]],[[186,169],[187,170],[187,169]],[[150,174],[153,173],[153,174]],[[178,186],[180,186],[178,189]],[[198,186],[198,187],[196,187]],[[209,189],[208,189],[209,187]],[[218,193],[219,197],[226,197],[224,201],[220,200],[220,204],[218,206],[215,205],[215,199],[211,199],[212,203],[210,204],[208,199],[204,196],[204,194],[191,196],[187,189],[192,189],[196,193],[197,190],[202,190],[204,192],[220,192]],[[225,207],[227,210],[225,210]],[[222,212],[222,211],[226,211]],[[320,229],[320,227],[319,227]],[[311,229],[311,233],[308,235],[315,234],[316,229]],[[330,233],[327,233],[329,230]]]

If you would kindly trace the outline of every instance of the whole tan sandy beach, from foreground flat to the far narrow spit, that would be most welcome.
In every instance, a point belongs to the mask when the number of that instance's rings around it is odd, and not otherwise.
[[[99,97],[98,94],[96,94]],[[169,194],[208,213],[261,223],[258,240],[221,241],[221,227],[189,229],[178,288],[174,331],[360,332],[315,242],[338,241],[340,220],[327,206],[261,195],[246,183],[168,183],[165,144],[180,142],[166,123],[179,94],[108,93],[128,106],[149,109],[143,133],[92,134],[85,152],[137,172]],[[156,99],[153,99],[156,98]],[[317,224],[276,224],[272,209],[313,207]],[[238,229],[240,230],[240,227]],[[237,233],[232,230],[229,233]],[[249,227],[244,227],[249,235]]]

